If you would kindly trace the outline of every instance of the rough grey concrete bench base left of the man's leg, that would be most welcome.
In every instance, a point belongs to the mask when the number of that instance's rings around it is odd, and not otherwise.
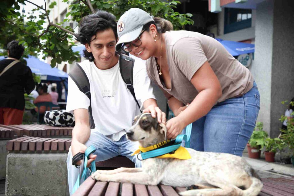
[[[5,195],[69,195],[66,153],[10,153]]]

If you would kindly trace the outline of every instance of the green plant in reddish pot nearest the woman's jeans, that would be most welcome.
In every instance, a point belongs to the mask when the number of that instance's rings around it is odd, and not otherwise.
[[[258,159],[260,158],[261,149],[265,145],[265,139],[268,137],[268,133],[263,130],[263,123],[256,123],[256,127],[250,137],[247,144],[248,155],[250,158]]]

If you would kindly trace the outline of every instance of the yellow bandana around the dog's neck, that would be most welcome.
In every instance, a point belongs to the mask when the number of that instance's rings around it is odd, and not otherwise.
[[[167,140],[167,142],[170,142],[171,140]],[[159,148],[161,146],[163,146],[164,144],[167,143],[166,141],[164,142],[161,142],[161,143],[158,143],[158,144],[155,144],[153,146],[148,146],[146,148],[143,148],[142,146],[139,146],[139,149],[136,150],[133,154],[138,154],[140,152],[147,152],[147,151],[150,151],[150,150],[154,150],[156,148]],[[176,158],[176,159],[182,159],[182,160],[186,160],[186,159],[191,159],[191,155],[190,153],[188,152],[188,150],[182,146],[180,146],[173,154],[165,154],[165,155],[161,155],[161,156],[158,156],[156,158],[161,158],[161,159],[165,159],[165,158]]]

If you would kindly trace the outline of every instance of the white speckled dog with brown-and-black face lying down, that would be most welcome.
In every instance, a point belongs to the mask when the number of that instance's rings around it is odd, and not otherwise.
[[[138,141],[140,146],[148,147],[166,140],[166,127],[158,124],[150,113],[143,113],[135,117],[127,136],[131,141]],[[191,159],[149,158],[142,161],[141,168],[97,170],[92,178],[99,181],[187,187],[187,191],[180,193],[183,196],[253,196],[261,191],[263,184],[259,176],[241,157],[227,153],[199,152],[191,148],[187,150]]]

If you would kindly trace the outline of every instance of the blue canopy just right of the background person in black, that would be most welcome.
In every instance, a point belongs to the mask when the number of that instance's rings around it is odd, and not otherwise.
[[[0,56],[0,60],[4,59],[4,56]],[[24,58],[26,60],[27,66],[31,68],[32,73],[41,76],[41,80],[45,81],[61,81],[61,78],[68,78],[69,75],[57,68],[51,68],[48,63],[40,61],[34,56],[29,56],[29,58]]]

